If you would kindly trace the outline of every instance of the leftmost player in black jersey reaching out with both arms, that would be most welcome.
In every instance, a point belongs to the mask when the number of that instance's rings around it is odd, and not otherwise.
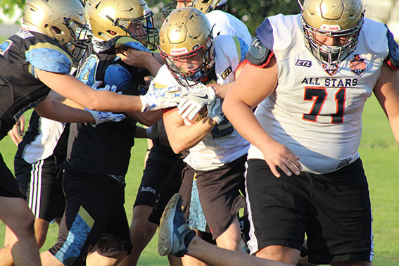
[[[72,63],[78,61],[71,51],[84,48],[76,34],[86,23],[79,1],[27,1],[23,17],[23,30],[0,44],[0,82],[3,90],[9,91],[1,97],[1,139],[27,108],[34,107],[39,115],[64,122],[101,122],[110,116],[70,108],[46,98],[51,89],[90,109],[127,111],[158,106],[158,95],[140,98],[96,91],[69,74]],[[39,265],[32,234],[34,217],[3,160],[1,173],[0,216],[18,239],[11,243],[15,264]]]

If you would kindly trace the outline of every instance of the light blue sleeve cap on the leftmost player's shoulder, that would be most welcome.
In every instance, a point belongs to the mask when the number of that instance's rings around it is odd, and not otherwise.
[[[25,57],[34,68],[61,74],[69,74],[73,63],[61,47],[46,42],[32,44],[25,51]]]

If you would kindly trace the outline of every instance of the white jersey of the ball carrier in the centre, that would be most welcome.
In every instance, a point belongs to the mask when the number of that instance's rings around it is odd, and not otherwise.
[[[215,72],[218,84],[234,81],[236,67],[243,60],[240,42],[236,37],[222,35],[217,37],[215,46]],[[183,92],[189,87],[179,85],[166,65],[163,65],[153,80],[155,89],[177,86]],[[249,143],[234,129],[229,120],[225,119],[216,125],[208,135],[196,146],[189,149],[189,155],[184,161],[195,170],[213,170],[244,156]]]

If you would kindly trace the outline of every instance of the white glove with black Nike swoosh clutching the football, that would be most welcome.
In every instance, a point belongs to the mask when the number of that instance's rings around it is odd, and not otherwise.
[[[206,87],[204,84],[193,87],[184,94],[182,101],[177,106],[179,115],[183,119],[188,117],[189,120],[192,120],[203,106],[207,106],[215,98],[213,87]]]

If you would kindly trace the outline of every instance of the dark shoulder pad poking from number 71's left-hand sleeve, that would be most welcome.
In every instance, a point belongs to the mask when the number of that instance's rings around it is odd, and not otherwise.
[[[269,63],[272,55],[272,51],[260,41],[258,35],[253,37],[251,46],[249,46],[246,53],[249,63],[263,68]]]

